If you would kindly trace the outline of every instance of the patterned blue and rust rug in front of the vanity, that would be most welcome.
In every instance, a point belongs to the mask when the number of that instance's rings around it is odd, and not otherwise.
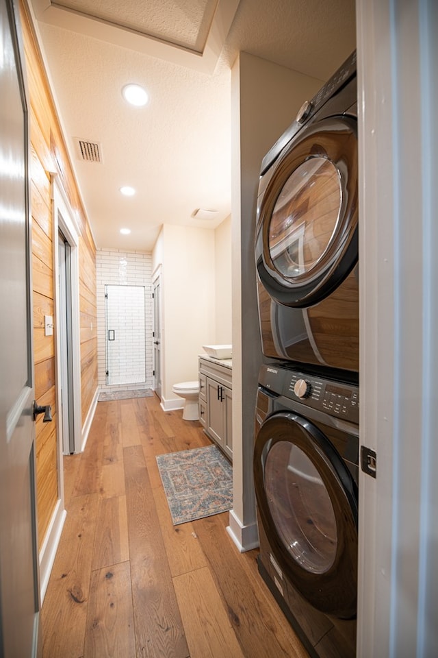
[[[216,446],[157,455],[174,526],[233,507],[233,469]]]

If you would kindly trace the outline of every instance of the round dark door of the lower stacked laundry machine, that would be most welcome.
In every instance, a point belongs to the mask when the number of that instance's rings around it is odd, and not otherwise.
[[[316,609],[352,618],[357,604],[357,487],[308,419],[274,413],[255,441],[259,517],[283,573]]]

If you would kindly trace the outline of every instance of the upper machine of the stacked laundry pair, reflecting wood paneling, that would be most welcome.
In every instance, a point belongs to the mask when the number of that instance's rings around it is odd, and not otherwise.
[[[255,260],[263,354],[359,371],[356,55],[263,158]]]

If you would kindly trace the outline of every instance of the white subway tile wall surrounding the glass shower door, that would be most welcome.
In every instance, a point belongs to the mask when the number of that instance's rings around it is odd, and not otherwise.
[[[96,295],[97,295],[97,358],[98,381],[102,390],[149,388],[152,386],[152,256],[143,252],[123,252],[120,249],[97,249],[96,251]],[[105,285],[144,286],[146,288],[146,382],[141,385],[106,385],[106,330],[105,330]]]

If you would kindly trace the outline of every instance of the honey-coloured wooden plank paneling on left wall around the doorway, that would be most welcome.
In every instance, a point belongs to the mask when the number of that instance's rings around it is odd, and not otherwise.
[[[53,468],[57,466],[55,455],[57,449],[57,417],[55,414],[55,343],[54,337],[44,336],[44,315],[52,315],[54,321],[54,282],[53,282],[53,217],[51,201],[50,172],[59,170],[60,177],[70,204],[79,221],[79,286],[82,306],[85,306],[87,318],[83,329],[96,326],[96,273],[92,263],[95,258],[95,245],[92,239],[85,212],[73,175],[73,169],[62,136],[60,122],[57,118],[55,104],[44,71],[38,42],[27,12],[27,0],[22,0],[21,22],[27,69],[27,84],[30,106],[30,176],[31,176],[31,213],[33,258],[32,271],[34,283],[34,361],[36,374],[36,395],[40,404],[52,404],[53,422],[51,431],[38,419],[36,439],[42,441],[47,458],[37,460],[37,506],[40,529],[40,542],[44,539],[50,514],[57,501],[54,486]],[[81,254],[81,249],[84,253]],[[90,404],[97,387],[97,344],[89,331],[82,332],[81,365],[85,378],[81,391],[82,421],[88,415]],[[47,435],[47,432],[49,434]],[[39,443],[38,443],[39,441]],[[50,455],[50,459],[49,459]],[[51,498],[52,496],[52,498]],[[55,654],[53,654],[55,655]]]

